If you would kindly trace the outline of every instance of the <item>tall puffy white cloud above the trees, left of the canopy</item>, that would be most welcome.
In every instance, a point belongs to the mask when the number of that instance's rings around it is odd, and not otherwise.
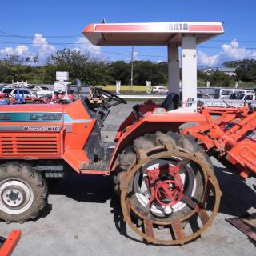
[[[39,60],[46,59],[57,50],[55,46],[47,42],[46,38],[42,37],[42,34],[38,33],[34,34],[33,46],[38,49]]]

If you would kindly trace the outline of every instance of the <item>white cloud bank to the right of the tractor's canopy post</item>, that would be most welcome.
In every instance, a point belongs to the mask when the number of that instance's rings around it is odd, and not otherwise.
[[[243,58],[256,58],[256,50],[247,50],[244,47],[239,47],[236,39],[230,44],[223,44],[222,50],[218,54],[210,56],[206,52],[198,50],[198,66],[219,66],[223,62],[241,60]]]

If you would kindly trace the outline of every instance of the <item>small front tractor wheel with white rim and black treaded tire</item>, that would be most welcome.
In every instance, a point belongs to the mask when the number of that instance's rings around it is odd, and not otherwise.
[[[0,219],[26,222],[46,206],[48,187],[31,166],[7,162],[0,166]]]

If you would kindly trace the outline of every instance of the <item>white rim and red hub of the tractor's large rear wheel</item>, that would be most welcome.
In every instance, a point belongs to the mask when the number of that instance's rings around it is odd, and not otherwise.
[[[170,160],[155,161],[141,172],[134,176],[134,192],[138,202],[154,216],[165,217],[182,210],[186,207],[186,203],[182,198],[184,193],[193,197],[196,180],[194,179],[193,172],[187,172],[187,162],[182,161],[182,158],[171,158]],[[185,167],[186,166],[186,167]],[[188,166],[188,167],[187,167]],[[156,188],[160,182],[173,181],[171,186],[176,190],[174,199],[161,198],[159,194],[156,197]],[[166,184],[167,185],[167,184]],[[163,185],[164,186],[164,185]],[[159,187],[158,192],[162,191]],[[181,193],[182,192],[182,193]],[[171,204],[169,204],[172,202]],[[167,203],[168,205],[164,205]]]

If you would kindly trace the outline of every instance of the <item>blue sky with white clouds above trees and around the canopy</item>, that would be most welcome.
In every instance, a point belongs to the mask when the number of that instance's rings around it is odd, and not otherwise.
[[[0,59],[38,55],[40,64],[64,47],[106,62],[130,61],[130,46],[93,46],[82,35],[90,23],[224,22],[225,33],[198,46],[198,66],[256,59],[256,1],[1,0]],[[166,61],[166,46],[134,46],[135,60]]]

